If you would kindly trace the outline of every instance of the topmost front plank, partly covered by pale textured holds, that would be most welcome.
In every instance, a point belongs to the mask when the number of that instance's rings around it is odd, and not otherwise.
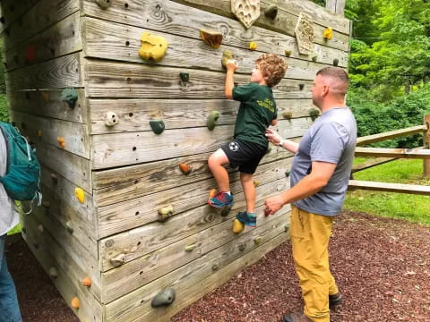
[[[231,2],[229,0],[212,0],[211,3],[208,3],[204,0],[173,0],[175,2],[181,4],[187,4],[196,8],[201,8],[203,10],[209,11],[211,13],[217,13],[219,15],[225,17],[231,17],[236,19],[234,14],[231,11]],[[284,2],[285,3],[285,2]],[[278,14],[275,20],[271,20],[265,17],[263,14],[263,10],[266,8],[267,3],[262,5],[262,14],[260,17],[254,22],[254,26],[262,27],[267,30],[273,30],[280,32],[282,34],[287,34],[289,36],[295,36],[295,29],[297,24],[298,16],[292,13],[288,13],[285,11],[285,7],[280,6],[278,9]],[[159,11],[163,10],[166,7],[160,6]],[[321,9],[319,9],[321,10]],[[316,11],[316,10],[315,10]],[[310,13],[311,17],[314,17],[314,12]],[[254,29],[254,26],[251,29]],[[324,26],[313,23],[314,29],[314,43],[330,46],[333,48],[338,48],[343,51],[348,51],[348,35],[333,31],[333,38],[330,41],[326,41],[323,38],[323,30],[325,28],[330,27],[327,24]],[[241,30],[245,31],[245,27],[242,26]]]

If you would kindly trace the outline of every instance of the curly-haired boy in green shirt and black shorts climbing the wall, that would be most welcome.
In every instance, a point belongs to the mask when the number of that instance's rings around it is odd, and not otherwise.
[[[236,61],[228,60],[226,68],[226,98],[241,103],[236,118],[234,140],[224,144],[208,160],[209,168],[219,185],[219,192],[209,199],[208,203],[215,208],[233,204],[228,172],[223,165],[238,166],[246,209],[239,212],[236,219],[245,225],[255,226],[253,174],[268,148],[265,131],[270,125],[278,123],[278,111],[271,88],[282,80],[287,64],[278,55],[261,55],[255,61],[251,82],[244,86],[234,86]]]

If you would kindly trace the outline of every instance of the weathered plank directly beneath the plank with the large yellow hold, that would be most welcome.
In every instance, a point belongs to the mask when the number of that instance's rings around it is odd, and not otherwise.
[[[21,70],[20,70],[21,71]],[[225,98],[224,72],[178,69],[150,64],[85,61],[87,97],[121,98]],[[182,85],[179,72],[188,72],[190,81]],[[250,77],[237,74],[235,81],[244,85]],[[300,84],[304,87],[301,89]],[[275,98],[311,98],[312,82],[283,79],[273,88]]]

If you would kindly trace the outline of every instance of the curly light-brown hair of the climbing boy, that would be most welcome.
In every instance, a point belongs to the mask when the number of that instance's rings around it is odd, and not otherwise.
[[[262,54],[255,61],[262,71],[262,77],[266,79],[267,86],[273,87],[280,83],[280,80],[287,71],[287,63],[279,55]]]

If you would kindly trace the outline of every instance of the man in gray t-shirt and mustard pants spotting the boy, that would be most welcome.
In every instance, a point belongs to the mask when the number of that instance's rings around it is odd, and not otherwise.
[[[331,306],[340,304],[330,272],[328,246],[333,217],[340,214],[357,141],[357,123],[345,105],[348,74],[339,67],[316,73],[312,98],[322,115],[300,143],[267,130],[273,144],[295,153],[291,188],[265,201],[266,215],[291,203],[291,245],[305,301],[304,314],[289,313],[283,322],[329,322]]]

